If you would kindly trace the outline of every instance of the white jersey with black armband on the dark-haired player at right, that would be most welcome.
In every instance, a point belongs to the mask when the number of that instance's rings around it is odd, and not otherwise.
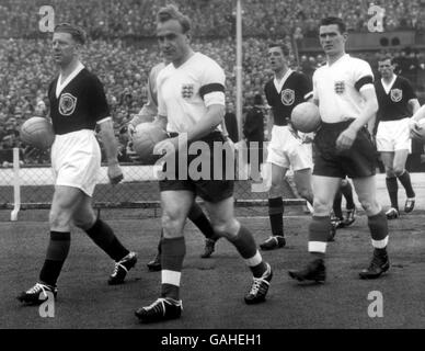
[[[359,117],[364,89],[375,89],[372,70],[368,63],[348,54],[331,66],[318,68],[313,75],[313,98],[319,100],[320,115],[325,123]]]

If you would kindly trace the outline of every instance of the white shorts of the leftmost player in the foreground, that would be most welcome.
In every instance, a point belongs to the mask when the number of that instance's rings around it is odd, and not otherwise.
[[[78,188],[92,196],[101,169],[101,157],[93,131],[56,135],[51,146],[55,185]]]

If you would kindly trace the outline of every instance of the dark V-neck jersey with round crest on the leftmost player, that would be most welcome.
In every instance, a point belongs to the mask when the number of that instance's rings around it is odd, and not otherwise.
[[[94,129],[97,121],[111,115],[103,86],[89,70],[82,69],[57,98],[58,79],[48,88],[55,134]]]

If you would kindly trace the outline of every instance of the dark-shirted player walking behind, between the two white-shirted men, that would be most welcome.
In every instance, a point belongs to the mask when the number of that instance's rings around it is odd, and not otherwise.
[[[310,204],[313,202],[311,190],[312,155],[311,144],[303,143],[290,126],[290,114],[296,105],[312,97],[311,80],[303,73],[288,67],[289,49],[285,45],[271,44],[268,61],[275,72],[264,88],[269,111],[267,163],[272,167],[272,186],[268,191],[268,215],[272,236],[260,247],[273,250],[286,245],[284,236],[284,202],[282,186],[284,177],[291,167],[298,193]],[[273,127],[272,127],[273,125]]]

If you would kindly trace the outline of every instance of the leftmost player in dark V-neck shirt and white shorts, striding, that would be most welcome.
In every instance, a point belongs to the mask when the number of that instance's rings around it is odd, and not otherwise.
[[[105,147],[111,183],[122,181],[123,172],[103,86],[79,60],[84,42],[84,32],[77,26],[62,23],[55,27],[53,54],[60,70],[48,89],[55,132],[50,240],[38,282],[18,296],[25,304],[41,304],[49,298],[49,294],[56,297],[56,283],[69,252],[72,223],[115,261],[114,272],[108,279],[111,285],[123,283],[137,261],[136,253],[128,251],[112,228],[96,218],[92,207],[101,167],[101,149],[94,134],[96,124]]]

